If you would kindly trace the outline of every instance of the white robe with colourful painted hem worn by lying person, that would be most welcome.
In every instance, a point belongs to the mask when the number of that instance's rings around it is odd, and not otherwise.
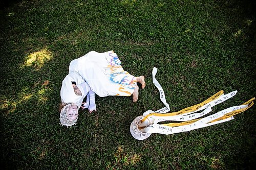
[[[93,92],[100,97],[108,95],[130,96],[134,92],[136,78],[124,71],[113,51],[105,53],[89,52],[72,60],[69,74],[62,81],[60,96],[62,103],[75,103],[80,108],[88,91],[79,88],[82,95],[76,95],[72,82],[87,82]]]

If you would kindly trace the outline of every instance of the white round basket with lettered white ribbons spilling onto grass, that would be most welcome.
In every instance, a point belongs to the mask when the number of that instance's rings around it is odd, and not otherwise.
[[[162,109],[159,109],[155,112],[152,110],[147,110],[146,112],[143,113],[143,116],[138,116],[133,120],[133,122],[131,123],[131,126],[130,126],[130,132],[131,132],[132,136],[138,140],[143,140],[143,139],[149,137],[152,133],[160,133],[160,134],[168,135],[168,134],[186,132],[186,131],[190,131],[190,130],[194,130],[194,129],[199,129],[199,128],[227,122],[227,121],[233,119],[233,116],[226,117],[223,119],[219,119],[219,118],[224,116],[227,113],[232,112],[232,111],[236,111],[236,110],[244,109],[244,108],[248,107],[248,105],[240,105],[240,106],[230,107],[230,108],[224,109],[222,111],[219,111],[215,114],[201,118],[201,119],[197,120],[196,122],[188,124],[188,125],[183,125],[183,126],[178,125],[176,127],[159,125],[157,123],[167,121],[167,120],[185,122],[185,121],[189,121],[189,120],[193,120],[193,119],[202,117],[202,116],[206,115],[207,113],[211,112],[212,107],[232,98],[234,95],[237,94],[237,91],[232,91],[228,94],[222,94],[219,96],[219,98],[216,98],[215,100],[213,100],[209,103],[206,103],[202,107],[196,108],[197,110],[194,110],[191,112],[187,112],[187,113],[185,112],[180,115],[176,114],[176,115],[170,115],[170,116],[167,115],[168,113],[166,114],[166,116],[165,116],[165,114],[154,115],[154,113],[166,113],[170,110],[169,105],[166,103],[166,100],[165,100],[164,91],[163,91],[161,85],[159,84],[159,82],[155,78],[156,73],[157,73],[157,68],[154,67],[154,69],[152,71],[153,83],[158,88],[158,90],[160,92],[160,100],[163,102],[165,107]],[[198,112],[201,110],[204,110],[204,111]],[[187,110],[187,111],[189,111],[189,110]],[[195,113],[195,112],[197,112],[197,113]],[[151,114],[151,113],[153,113],[153,114]],[[150,115],[148,115],[148,114],[150,114]],[[145,119],[145,117],[146,117],[146,119]],[[144,118],[144,121],[142,121],[143,118]],[[218,119],[218,120],[215,120],[215,119]],[[215,122],[212,122],[212,120],[215,120]]]

